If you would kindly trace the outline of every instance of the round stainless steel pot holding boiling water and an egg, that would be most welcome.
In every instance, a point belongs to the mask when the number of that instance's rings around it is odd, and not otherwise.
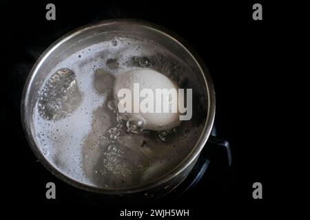
[[[200,83],[203,87],[205,87],[205,96],[207,97],[207,118],[203,133],[197,140],[196,146],[194,146],[191,153],[187,155],[183,162],[178,164],[178,166],[174,167],[162,177],[144,184],[143,186],[117,190],[97,188],[82,184],[81,182],[75,181],[74,179],[64,175],[58,168],[50,164],[50,162],[48,162],[43,155],[37,142],[32,118],[34,105],[38,98],[38,91],[47,77],[48,69],[53,67],[64,57],[81,50],[87,45],[99,43],[103,39],[106,40],[112,38],[116,32],[118,34],[131,34],[146,39],[151,39],[152,41],[163,45],[168,50],[173,51],[174,54],[178,54],[183,61],[189,63],[190,67],[193,69],[193,72],[197,74],[197,77],[201,77],[202,80],[200,80]],[[163,28],[158,28],[158,26],[151,23],[132,20],[108,20],[97,24],[85,25],[78,30],[65,34],[65,36],[61,37],[61,39],[53,43],[47,50],[45,50],[45,52],[43,52],[37,63],[35,63],[34,67],[32,67],[28,80],[25,83],[21,102],[21,118],[26,137],[28,138],[32,151],[34,151],[34,154],[38,157],[39,161],[45,166],[45,168],[50,170],[51,173],[56,175],[56,177],[59,177],[59,179],[72,186],[91,192],[100,192],[109,195],[125,195],[131,198],[138,198],[139,200],[148,200],[161,197],[178,186],[178,184],[180,184],[180,182],[183,181],[183,179],[185,179],[188,173],[192,170],[196,160],[198,159],[200,151],[205,146],[211,133],[215,114],[215,94],[211,77],[209,76],[209,73],[200,58],[198,58],[198,56],[189,49],[188,45],[185,45],[186,43],[176,37],[175,34],[171,34]]]

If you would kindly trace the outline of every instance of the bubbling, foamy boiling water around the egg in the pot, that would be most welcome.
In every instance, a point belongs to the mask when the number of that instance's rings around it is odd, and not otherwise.
[[[194,76],[161,45],[123,37],[85,47],[50,71],[34,108],[34,129],[41,151],[62,173],[101,188],[137,186],[167,173],[192,150],[205,122],[194,88],[192,120],[169,131],[143,130],[143,119],[118,113],[114,78],[139,67],[165,74],[180,88]]]

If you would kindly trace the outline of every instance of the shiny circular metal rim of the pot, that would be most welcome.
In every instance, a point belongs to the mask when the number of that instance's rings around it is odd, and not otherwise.
[[[74,36],[93,29],[98,28],[104,25],[118,25],[118,24],[127,24],[127,25],[140,25],[143,26],[143,28],[147,28],[149,30],[152,30],[154,32],[158,32],[159,34],[163,34],[165,37],[171,39],[180,47],[183,47],[183,50],[189,54],[198,66],[198,69],[200,69],[200,72],[203,74],[203,78],[205,80],[205,85],[207,87],[207,118],[205,122],[205,126],[203,128],[203,132],[201,133],[198,141],[196,142],[195,146],[192,148],[192,151],[185,157],[182,162],[180,162],[177,166],[172,168],[172,170],[169,170],[165,175],[162,175],[161,177],[158,177],[156,179],[153,179],[152,181],[147,182],[146,184],[141,184],[138,186],[132,186],[130,188],[100,188],[97,186],[90,186],[88,184],[83,184],[79,181],[76,181],[75,179],[72,179],[65,175],[65,173],[62,173],[61,170],[53,166],[50,162],[48,162],[48,159],[45,158],[43,153],[39,150],[39,146],[37,146],[35,141],[35,135],[32,134],[32,129],[30,123],[28,123],[28,111],[30,111],[29,107],[30,104],[30,85],[32,85],[32,81],[34,80],[34,76],[36,76],[39,67],[43,65],[44,61],[50,54],[56,50],[59,45],[65,43],[69,39],[72,39]],[[214,117],[215,117],[215,110],[216,110],[216,100],[215,100],[215,92],[214,92],[214,85],[211,80],[211,76],[209,75],[209,72],[207,70],[207,67],[205,67],[203,60],[194,52],[192,47],[184,41],[180,36],[175,34],[174,32],[171,32],[167,30],[166,28],[163,28],[159,25],[156,25],[154,23],[149,23],[147,21],[140,21],[140,20],[133,20],[133,19],[109,19],[109,20],[103,20],[99,23],[94,24],[87,24],[83,25],[80,28],[77,28],[76,30],[72,30],[71,32],[68,32],[67,34],[61,36],[58,40],[56,40],[50,47],[48,47],[43,54],[38,58],[37,62],[34,63],[34,66],[30,70],[30,74],[28,75],[28,78],[25,82],[25,85],[23,87],[23,95],[21,98],[21,122],[23,124],[23,129],[25,131],[25,136],[28,140],[28,143],[30,144],[30,148],[32,148],[32,151],[37,156],[41,164],[45,166],[53,175],[58,177],[59,179],[65,181],[66,183],[70,184],[71,186],[75,186],[77,188],[81,188],[82,190],[87,190],[90,192],[99,192],[103,194],[128,194],[128,193],[134,193],[134,192],[142,192],[145,190],[149,190],[152,188],[155,188],[156,186],[160,186],[161,184],[165,184],[165,182],[173,179],[174,177],[178,176],[180,173],[182,173],[190,164],[194,162],[196,157],[200,154],[200,151],[202,151],[203,147],[205,146],[205,143],[207,142],[207,139],[209,138],[209,135],[211,133],[211,129],[214,124]]]

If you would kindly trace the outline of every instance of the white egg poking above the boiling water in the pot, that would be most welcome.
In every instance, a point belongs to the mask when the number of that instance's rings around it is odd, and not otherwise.
[[[145,99],[141,98],[139,96],[140,101],[134,102],[134,83],[138,83],[139,85],[139,91],[143,89],[152,89],[154,94],[154,112],[146,112],[143,113],[142,111],[139,111],[138,113],[134,110],[132,110],[131,113],[128,113],[130,111],[127,111],[127,114],[129,117],[141,117],[145,120],[145,126],[143,129],[149,129],[153,131],[164,131],[168,129],[172,129],[175,126],[178,126],[180,124],[180,113],[178,112],[178,108],[176,106],[176,111],[172,112],[172,96],[165,94],[162,96],[162,99],[159,99],[156,96],[156,89],[176,89],[176,93],[178,95],[178,85],[174,83],[172,80],[170,80],[167,76],[156,72],[153,69],[136,69],[130,72],[125,72],[119,76],[116,77],[115,83],[114,83],[114,98],[116,99],[116,102],[119,103],[119,101],[122,99],[118,96],[118,91],[120,89],[129,89],[132,94],[132,109],[135,107],[139,109],[141,100]],[[150,91],[150,90],[149,90]],[[135,96],[136,97],[136,96]],[[177,101],[177,100],[176,100]],[[158,112],[156,111],[156,106],[161,102],[161,105],[165,104],[164,102],[167,102],[166,104],[169,105],[169,112]],[[176,102],[173,102],[176,104]],[[139,105],[139,106],[137,106]],[[148,105],[147,105],[148,106]],[[122,105],[118,104],[118,111],[124,112]],[[134,113],[135,112],[135,113]]]

